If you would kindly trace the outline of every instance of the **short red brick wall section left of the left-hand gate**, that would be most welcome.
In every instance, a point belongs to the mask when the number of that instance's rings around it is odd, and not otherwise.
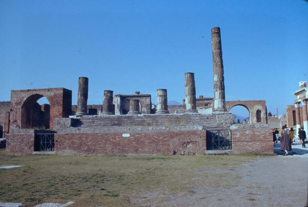
[[[6,148],[7,154],[32,154],[34,148],[34,134],[6,134]]]

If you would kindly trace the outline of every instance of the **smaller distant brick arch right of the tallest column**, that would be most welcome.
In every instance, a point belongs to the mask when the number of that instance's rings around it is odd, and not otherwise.
[[[249,111],[249,123],[257,123],[257,110],[261,110],[261,122],[267,124],[267,110],[265,101],[226,101],[226,110],[234,106],[244,106]]]

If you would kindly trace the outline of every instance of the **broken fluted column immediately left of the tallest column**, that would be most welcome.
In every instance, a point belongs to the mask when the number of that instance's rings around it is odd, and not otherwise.
[[[185,113],[198,113],[196,105],[195,73],[185,73]]]

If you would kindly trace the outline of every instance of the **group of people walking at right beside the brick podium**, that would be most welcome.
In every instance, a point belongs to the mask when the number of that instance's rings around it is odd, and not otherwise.
[[[277,128],[273,129],[273,142],[274,146],[275,143],[278,143],[278,137],[279,137],[279,131]],[[298,128],[298,138],[302,144],[302,147],[306,147],[305,145],[305,139],[306,139],[306,131],[303,127]],[[289,155],[288,151],[292,151],[292,146],[294,139],[294,130],[291,127],[290,130],[286,129],[285,127],[282,127],[281,130],[281,139],[280,139],[280,150],[285,151],[285,155]]]

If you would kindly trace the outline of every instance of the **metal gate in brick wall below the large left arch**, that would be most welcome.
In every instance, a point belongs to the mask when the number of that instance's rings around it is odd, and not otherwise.
[[[34,136],[34,151],[54,151],[55,134],[43,133]]]

